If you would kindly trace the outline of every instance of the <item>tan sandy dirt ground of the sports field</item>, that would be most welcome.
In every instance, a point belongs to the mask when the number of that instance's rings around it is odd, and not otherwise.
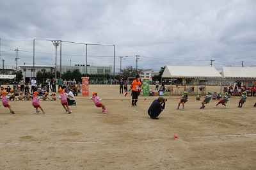
[[[215,100],[199,109],[202,100],[191,96],[181,111],[178,97],[168,96],[152,120],[147,109],[156,96],[140,96],[132,107],[117,85],[89,89],[109,114],[81,95],[72,114],[59,100],[40,101],[46,114],[36,114],[31,101],[10,101],[15,114],[1,104],[0,169],[256,169],[255,97],[241,109],[239,97],[228,109],[214,109]]]

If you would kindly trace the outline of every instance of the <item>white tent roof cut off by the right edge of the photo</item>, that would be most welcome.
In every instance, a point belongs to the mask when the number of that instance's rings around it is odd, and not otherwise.
[[[256,67],[223,67],[221,75],[227,79],[256,79]]]

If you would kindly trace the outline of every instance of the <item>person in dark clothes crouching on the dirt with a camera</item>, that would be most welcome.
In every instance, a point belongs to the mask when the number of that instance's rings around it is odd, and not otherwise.
[[[157,116],[159,116],[159,114],[164,110],[166,101],[167,99],[163,97],[158,97],[156,100],[152,102],[148,109],[148,115],[150,116],[150,118],[152,118],[153,120],[159,119],[157,118]]]

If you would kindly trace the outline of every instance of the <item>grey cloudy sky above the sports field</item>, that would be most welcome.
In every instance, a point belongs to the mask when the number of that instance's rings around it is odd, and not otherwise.
[[[62,40],[62,65],[256,66],[255,0],[1,0],[5,68],[55,65],[51,41]],[[76,43],[70,43],[76,42]],[[101,44],[101,45],[92,45]],[[60,47],[58,47],[58,65]],[[0,62],[3,67],[3,62]]]

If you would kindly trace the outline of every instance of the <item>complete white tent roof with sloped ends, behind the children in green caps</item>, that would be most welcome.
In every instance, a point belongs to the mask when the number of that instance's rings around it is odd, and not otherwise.
[[[163,78],[218,78],[221,74],[213,66],[166,66]]]

